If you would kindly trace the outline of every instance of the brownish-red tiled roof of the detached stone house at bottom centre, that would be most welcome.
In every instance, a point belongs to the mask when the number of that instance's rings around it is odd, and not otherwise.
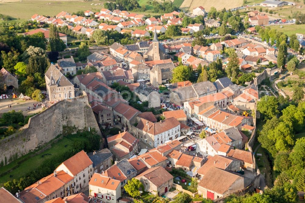
[[[165,170],[162,166],[147,169],[145,172],[141,173],[136,177],[140,178],[142,176],[147,178],[152,184],[156,185],[157,187],[160,187],[162,184],[173,179],[173,176],[170,175],[170,173],[168,173],[167,170]]]

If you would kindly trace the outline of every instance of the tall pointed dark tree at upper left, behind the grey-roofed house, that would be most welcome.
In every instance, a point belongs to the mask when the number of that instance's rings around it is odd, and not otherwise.
[[[49,50],[51,52],[61,52],[66,48],[65,43],[59,38],[57,27],[53,24],[49,29]]]

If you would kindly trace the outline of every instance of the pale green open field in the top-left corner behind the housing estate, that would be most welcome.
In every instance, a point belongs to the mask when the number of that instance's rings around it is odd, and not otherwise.
[[[93,5],[91,5],[93,3]],[[97,4],[97,5],[95,5]],[[99,11],[103,8],[101,1],[61,1],[61,0],[23,0],[23,1],[4,1],[0,2],[0,13],[7,15],[17,20],[28,20],[37,13],[40,15],[55,16],[61,11],[69,13],[77,11],[91,10],[93,12]]]

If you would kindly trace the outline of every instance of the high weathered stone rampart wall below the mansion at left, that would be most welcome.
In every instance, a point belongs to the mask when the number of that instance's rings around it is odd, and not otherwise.
[[[62,100],[45,111],[31,117],[27,125],[15,134],[0,141],[0,162],[4,165],[14,161],[51,141],[67,128],[95,128],[99,134],[99,126],[93,111],[88,104],[87,95]],[[73,133],[73,132],[72,132]]]

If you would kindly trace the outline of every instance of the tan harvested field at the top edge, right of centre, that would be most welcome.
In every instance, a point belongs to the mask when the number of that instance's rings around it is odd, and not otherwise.
[[[209,11],[211,7],[215,7],[217,10],[223,8],[232,9],[241,6],[243,0],[218,0],[211,3],[210,0],[184,0],[180,6],[180,9],[184,11],[193,11],[193,8],[203,6],[206,11]]]

